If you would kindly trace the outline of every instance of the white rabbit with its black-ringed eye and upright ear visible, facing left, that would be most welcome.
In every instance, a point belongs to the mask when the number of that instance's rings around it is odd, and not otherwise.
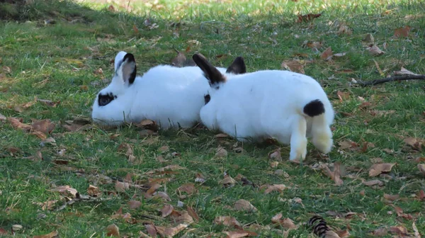
[[[241,63],[220,72],[243,74]],[[239,59],[240,60],[240,59]],[[236,67],[236,65],[238,67]],[[101,125],[140,123],[154,120],[162,129],[188,128],[200,122],[200,108],[210,86],[203,72],[194,67],[159,65],[137,76],[135,57],[127,52],[115,56],[115,74],[105,89],[96,96],[91,117]]]

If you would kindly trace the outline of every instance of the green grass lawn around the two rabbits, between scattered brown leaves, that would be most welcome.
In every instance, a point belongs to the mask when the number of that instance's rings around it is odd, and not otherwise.
[[[224,215],[236,217],[246,225],[244,229],[257,232],[259,237],[282,237],[285,229],[271,222],[271,217],[279,212],[300,224],[289,233],[290,237],[309,236],[311,232],[302,222],[307,222],[314,213],[324,216],[336,230],[349,227],[351,237],[373,237],[370,232],[374,229],[395,225],[402,225],[413,234],[413,221],[424,234],[424,200],[414,195],[425,190],[424,174],[415,162],[425,154],[414,151],[403,141],[406,137],[425,137],[424,82],[403,81],[363,88],[350,82],[352,78],[381,78],[374,60],[385,76],[401,67],[425,74],[425,5],[407,0],[353,2],[196,1],[191,4],[189,1],[158,1],[154,6],[122,2],[113,4],[118,11],[115,13],[101,2],[83,6],[67,1],[35,1],[22,8],[1,5],[0,9],[9,9],[8,18],[13,21],[0,22],[0,113],[7,118],[23,118],[23,122],[29,124],[31,119],[52,120],[56,127],[50,136],[55,138],[56,145],[43,147],[37,136],[13,128],[7,120],[0,121],[0,228],[11,234],[13,225],[22,225],[16,237],[32,237],[54,230],[60,237],[106,237],[105,228],[114,223],[120,228],[121,236],[138,237],[139,231],[147,233],[147,222],[174,226],[171,218],[161,219],[159,212],[169,203],[176,210],[191,206],[200,217],[199,222],[176,237],[186,232],[186,237],[207,237],[208,234],[224,237],[223,231],[234,228],[213,223],[215,217]],[[295,23],[297,13],[322,13],[322,16],[307,23]],[[147,18],[159,27],[149,29],[144,24]],[[47,19],[54,19],[55,24],[45,24]],[[176,23],[180,23],[179,26]],[[352,35],[337,34],[339,23],[351,28]],[[411,27],[409,37],[393,38],[394,30],[403,26]],[[368,54],[361,41],[367,33],[373,34],[384,55]],[[302,47],[305,40],[322,41],[320,52],[331,47],[334,53],[346,52],[346,56],[325,62],[319,59],[320,53]],[[384,42],[386,49],[382,46]],[[157,138],[149,144],[140,136],[140,128],[133,125],[109,129],[93,125],[77,132],[68,132],[63,127],[67,120],[90,116],[94,96],[111,79],[110,60],[119,50],[135,55],[142,74],[154,65],[170,64],[176,56],[173,47],[188,57],[201,52],[220,67],[226,67],[234,57],[242,55],[249,72],[280,69],[283,61],[296,59],[295,54],[305,54],[302,60],[312,60],[305,64],[305,74],[324,85],[337,111],[333,125],[335,148],[329,159],[321,158],[311,145],[302,166],[288,162],[289,147],[283,145],[239,142],[238,146],[244,148],[239,154],[232,150],[236,141],[217,139],[215,132],[205,129],[160,131],[159,135],[147,138]],[[217,55],[226,57],[215,57]],[[10,72],[5,67],[9,67]],[[103,74],[94,74],[99,68]],[[341,74],[344,69],[351,72]],[[349,97],[339,101],[338,91],[346,92]],[[34,101],[35,96],[60,103],[50,107],[35,102],[23,108],[25,103]],[[359,97],[371,106],[361,109],[363,101]],[[16,106],[22,110],[16,110]],[[390,110],[395,112],[386,116],[370,113]],[[339,149],[339,142],[346,140],[361,145],[370,142],[374,147],[368,147],[365,152]],[[136,162],[128,162],[125,152],[118,151],[123,142],[134,147]],[[161,154],[158,149],[165,145],[170,148],[169,153],[180,155],[167,157],[166,153],[164,157],[168,162],[157,162],[155,158]],[[227,149],[227,157],[215,157],[219,145]],[[272,169],[268,153],[278,147],[282,148],[283,161]],[[61,149],[65,149],[63,157],[58,154]],[[395,152],[390,154],[385,149]],[[41,152],[43,160],[26,159],[37,152]],[[389,173],[392,179],[368,176],[377,157],[383,162],[397,163]],[[67,160],[68,164],[55,164],[55,159]],[[343,177],[344,185],[335,186],[328,176],[310,168],[316,162],[341,162],[346,174],[352,176]],[[145,174],[147,171],[170,164],[186,168],[164,175],[171,181],[158,191],[166,191],[171,202],[146,199],[137,188],[115,191],[115,181],[123,181],[128,173],[132,173],[133,183],[146,184],[152,179]],[[67,171],[64,167],[74,169]],[[275,175],[276,169],[288,175]],[[242,186],[242,182],[223,188],[219,182],[225,171],[232,177],[242,174],[259,186],[283,183],[290,188],[283,193],[269,194],[259,188]],[[197,173],[207,178],[202,185],[195,183]],[[96,179],[98,175],[108,176],[114,182],[100,183]],[[372,179],[384,181],[385,186],[375,189],[362,183]],[[197,191],[182,199],[176,189],[184,183],[195,183]],[[104,192],[102,197],[108,199],[79,201],[60,211],[42,210],[37,205],[60,200],[55,209],[64,204],[59,193],[50,191],[54,186],[69,185],[86,195],[89,184],[98,186]],[[108,191],[115,193],[108,196]],[[393,204],[414,219],[397,217],[392,205],[383,198],[384,193],[399,194],[401,199]],[[249,214],[230,209],[240,198],[249,200],[258,212]],[[293,198],[301,198],[304,206],[289,203]],[[129,200],[140,200],[142,205],[132,210],[128,207]],[[185,204],[183,208],[177,207],[179,200]],[[136,222],[131,224],[111,217],[119,208],[123,214],[130,212]],[[328,211],[356,212],[357,215],[351,219],[336,219],[327,214]],[[37,219],[40,216],[42,218]]]

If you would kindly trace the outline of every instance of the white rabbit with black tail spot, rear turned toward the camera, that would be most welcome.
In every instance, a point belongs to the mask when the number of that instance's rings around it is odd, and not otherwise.
[[[307,137],[319,151],[331,151],[334,109],[312,77],[281,70],[223,74],[202,55],[193,60],[211,86],[210,101],[200,110],[208,129],[241,141],[275,137],[290,145],[290,160],[305,159]]]

